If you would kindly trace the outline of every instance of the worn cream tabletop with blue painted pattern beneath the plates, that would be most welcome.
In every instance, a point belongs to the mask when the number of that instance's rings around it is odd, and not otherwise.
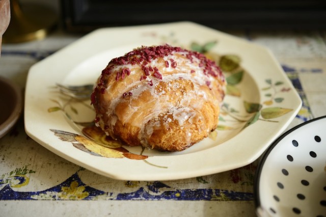
[[[303,100],[288,128],[326,115],[326,36],[322,31],[230,32],[268,47]],[[24,92],[30,67],[80,35],[3,44],[0,75]],[[259,159],[258,159],[259,160]],[[173,181],[120,181],[79,167],[24,131],[23,115],[0,139],[1,216],[255,216],[258,160],[231,171]]]

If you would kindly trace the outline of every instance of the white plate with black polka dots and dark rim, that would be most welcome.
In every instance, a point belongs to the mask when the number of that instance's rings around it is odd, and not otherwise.
[[[326,116],[285,132],[264,153],[255,183],[260,216],[326,216]]]

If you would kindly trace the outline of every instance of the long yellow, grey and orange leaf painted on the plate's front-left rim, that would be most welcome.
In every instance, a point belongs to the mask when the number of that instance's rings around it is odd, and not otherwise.
[[[78,148],[79,150],[85,151],[89,154],[103,156],[103,157],[113,157],[113,158],[123,158],[127,157],[129,159],[146,159],[148,156],[146,155],[139,155],[130,153],[125,148],[108,148],[104,147],[95,141],[89,140],[88,138],[84,137],[83,135],[78,135],[72,132],[50,129],[52,132],[55,133],[57,137],[61,141],[64,142],[71,142],[74,147]]]

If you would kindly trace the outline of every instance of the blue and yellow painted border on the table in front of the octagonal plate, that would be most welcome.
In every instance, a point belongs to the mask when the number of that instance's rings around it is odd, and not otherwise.
[[[165,188],[161,191],[160,188]],[[176,189],[155,181],[131,193],[103,192],[87,186],[78,173],[73,174],[61,184],[40,192],[17,192],[10,184],[0,190],[0,200],[187,200],[187,201],[252,201],[253,193],[235,192],[223,189]]]

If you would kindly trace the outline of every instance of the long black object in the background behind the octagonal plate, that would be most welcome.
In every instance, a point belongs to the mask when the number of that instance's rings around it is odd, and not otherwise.
[[[193,21],[219,30],[326,29],[326,1],[105,1],[62,0],[68,32],[103,26]]]

